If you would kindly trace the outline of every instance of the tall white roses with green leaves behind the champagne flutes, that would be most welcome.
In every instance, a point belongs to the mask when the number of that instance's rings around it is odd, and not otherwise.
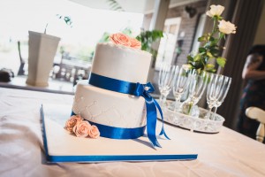
[[[220,57],[220,51],[224,48],[219,45],[225,35],[235,34],[236,27],[229,21],[225,21],[221,14],[224,7],[222,5],[211,5],[210,10],[206,12],[208,17],[214,20],[213,29],[210,33],[202,35],[198,38],[203,45],[196,53],[191,53],[187,56],[188,62],[184,67],[189,69],[196,69],[199,73],[201,70],[215,73],[215,65],[212,64],[216,59],[217,65],[224,67],[226,58]],[[219,23],[219,24],[218,24]]]

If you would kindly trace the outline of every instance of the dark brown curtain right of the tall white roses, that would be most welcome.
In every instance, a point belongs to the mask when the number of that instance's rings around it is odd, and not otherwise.
[[[264,0],[226,2],[230,2],[228,19],[231,18],[231,23],[236,25],[237,33],[229,35],[224,43],[226,50],[223,50],[223,57],[227,58],[227,63],[219,72],[230,76],[232,82],[228,95],[217,112],[225,119],[224,126],[235,129],[243,89],[242,71],[248,50],[254,43]]]

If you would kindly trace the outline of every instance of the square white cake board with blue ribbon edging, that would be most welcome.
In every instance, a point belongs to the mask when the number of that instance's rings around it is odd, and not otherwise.
[[[71,110],[72,105],[68,104],[42,104],[43,143],[48,163],[193,160],[198,156],[178,140],[163,137],[157,137],[162,148],[155,149],[147,135],[131,140],[76,137],[64,129]]]

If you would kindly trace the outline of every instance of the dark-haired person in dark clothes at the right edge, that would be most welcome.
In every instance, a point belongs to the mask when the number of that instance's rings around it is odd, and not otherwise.
[[[255,139],[259,122],[246,117],[246,108],[256,106],[265,110],[265,45],[254,45],[249,51],[242,72],[246,87],[240,100],[238,129]]]

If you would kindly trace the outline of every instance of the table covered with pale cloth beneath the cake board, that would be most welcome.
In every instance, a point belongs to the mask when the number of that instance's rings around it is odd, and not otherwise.
[[[165,125],[167,134],[191,147],[198,158],[168,162],[95,164],[45,161],[41,104],[72,104],[73,96],[0,88],[0,176],[265,176],[265,146],[222,127],[201,134]]]

